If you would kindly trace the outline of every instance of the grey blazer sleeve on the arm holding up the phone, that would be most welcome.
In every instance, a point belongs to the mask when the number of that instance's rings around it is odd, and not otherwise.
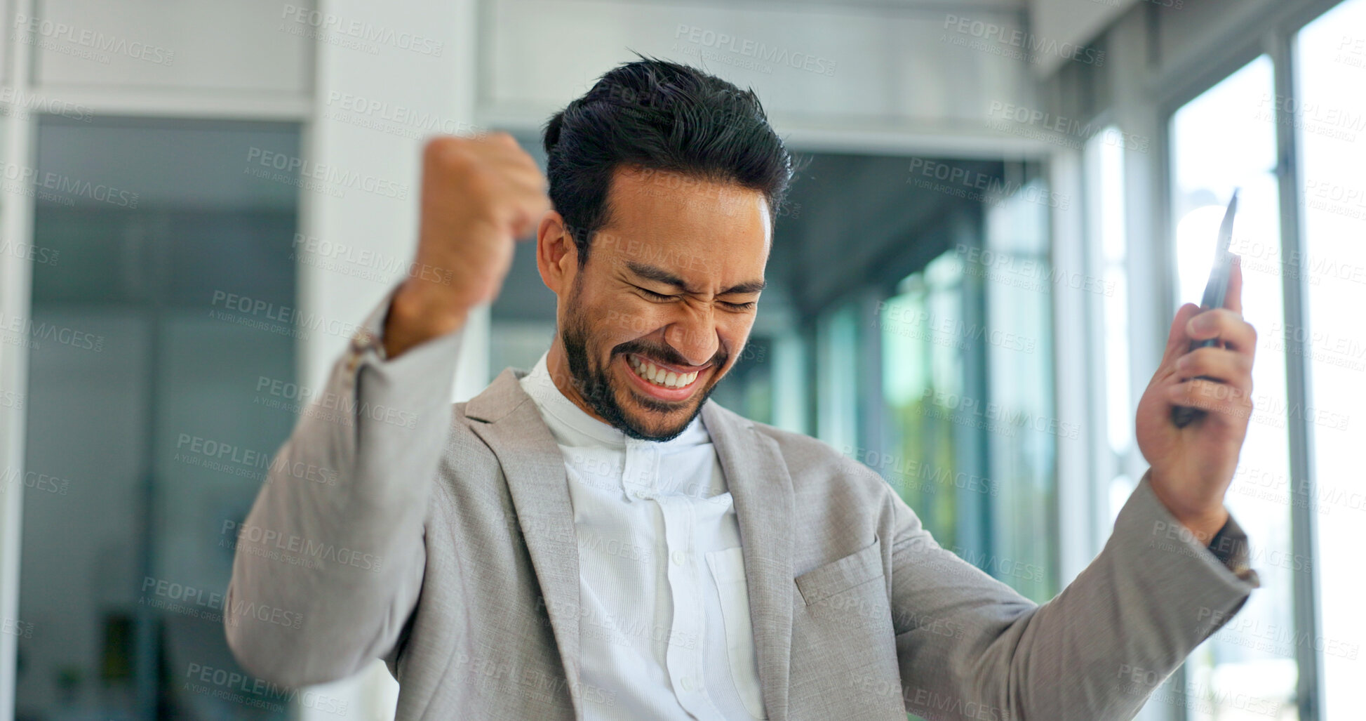
[[[1220,555],[1153,494],[1147,475],[1104,550],[1035,605],[943,549],[892,495],[892,618],[903,698],[925,718],[1132,718],[1259,586],[1236,521]]]

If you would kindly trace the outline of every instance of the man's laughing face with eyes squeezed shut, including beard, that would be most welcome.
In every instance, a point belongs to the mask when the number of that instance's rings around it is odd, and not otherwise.
[[[560,297],[574,389],[632,438],[683,432],[739,358],[769,250],[764,194],[619,168],[608,223]],[[582,257],[581,257],[582,260]]]

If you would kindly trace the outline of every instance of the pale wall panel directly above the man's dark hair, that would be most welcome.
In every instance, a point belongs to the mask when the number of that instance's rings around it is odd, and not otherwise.
[[[993,44],[956,44],[978,40],[956,19],[1014,31],[1023,12],[959,5],[488,0],[479,118],[540,127],[638,51],[751,86],[784,135],[929,135],[940,149],[1001,141],[984,119],[993,101],[1033,103],[1029,64]]]

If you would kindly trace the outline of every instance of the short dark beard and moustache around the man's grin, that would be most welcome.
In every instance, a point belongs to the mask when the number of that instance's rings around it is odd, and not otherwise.
[[[669,346],[658,346],[645,341],[627,341],[612,349],[608,356],[607,365],[597,365],[593,363],[593,354],[589,352],[589,324],[587,313],[582,312],[579,306],[579,287],[578,279],[575,279],[574,290],[570,293],[570,304],[566,309],[566,323],[564,330],[560,332],[560,342],[564,345],[564,356],[570,364],[570,380],[574,383],[574,389],[579,393],[583,401],[597,413],[602,420],[605,420],[613,428],[624,432],[631,438],[641,441],[672,441],[678,438],[693,419],[702,410],[702,404],[706,398],[712,395],[712,390],[716,389],[716,383],[720,378],[713,378],[712,382],[701,393],[697,393],[693,402],[693,410],[687,415],[686,420],[675,424],[660,427],[658,423],[647,424],[647,421],[627,413],[622,404],[617,401],[617,383],[613,382],[612,375],[608,369],[612,365],[612,360],[616,356],[623,356],[627,353],[638,353],[641,356],[658,358],[664,363],[672,363],[675,365],[691,365],[687,363],[678,350]],[[717,350],[716,357],[712,358],[713,368],[725,367],[725,354],[723,350]],[[641,397],[631,389],[620,389],[623,394],[631,395],[637,404],[645,408],[647,413],[658,413],[660,417],[679,410],[679,404],[671,404],[660,401],[657,398]]]

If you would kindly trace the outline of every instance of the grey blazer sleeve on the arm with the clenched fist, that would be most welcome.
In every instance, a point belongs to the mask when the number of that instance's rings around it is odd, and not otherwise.
[[[236,528],[224,629],[272,683],[332,681],[389,655],[417,605],[462,331],[385,358],[392,296],[301,409]]]

